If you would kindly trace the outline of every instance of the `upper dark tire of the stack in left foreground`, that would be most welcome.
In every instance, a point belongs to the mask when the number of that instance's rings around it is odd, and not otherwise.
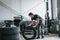
[[[20,32],[19,27],[6,27],[6,28],[1,28],[1,33],[2,34],[17,34]]]

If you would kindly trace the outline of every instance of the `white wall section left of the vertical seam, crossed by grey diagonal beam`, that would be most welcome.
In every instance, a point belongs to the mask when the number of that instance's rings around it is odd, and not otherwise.
[[[8,7],[0,5],[0,20],[12,20],[14,16],[20,15],[20,0],[0,0],[0,1],[14,10],[14,12],[12,12],[12,10],[9,10]]]

